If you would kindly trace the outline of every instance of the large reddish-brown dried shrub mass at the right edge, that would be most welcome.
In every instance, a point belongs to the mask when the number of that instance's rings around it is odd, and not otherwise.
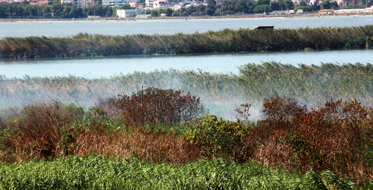
[[[268,117],[248,137],[253,159],[307,172],[330,170],[357,181],[372,182],[373,110],[358,101],[333,102],[306,111],[297,102],[287,109],[279,98],[265,99]],[[290,116],[290,117],[289,117]]]

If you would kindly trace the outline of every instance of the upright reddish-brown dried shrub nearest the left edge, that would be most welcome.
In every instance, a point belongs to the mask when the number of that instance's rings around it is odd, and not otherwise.
[[[59,152],[59,140],[65,131],[65,118],[58,103],[29,104],[16,120],[18,133],[10,137],[9,146],[16,159],[46,158]]]

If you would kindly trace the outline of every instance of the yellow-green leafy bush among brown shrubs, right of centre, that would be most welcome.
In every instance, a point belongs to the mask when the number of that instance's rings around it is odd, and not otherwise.
[[[244,137],[247,130],[240,123],[217,119],[215,115],[205,115],[188,122],[190,128],[185,135],[195,145],[209,149],[212,156],[235,154],[235,149],[247,149]],[[236,158],[236,156],[235,156]]]

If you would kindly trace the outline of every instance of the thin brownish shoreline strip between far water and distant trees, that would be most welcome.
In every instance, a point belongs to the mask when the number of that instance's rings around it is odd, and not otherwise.
[[[111,17],[103,17],[103,18],[67,18],[67,19],[0,19],[0,22],[56,22],[56,21],[135,21],[135,20],[185,20],[185,19],[248,19],[248,18],[298,18],[298,17],[318,17],[318,16],[365,16],[365,15],[372,15],[370,13],[345,13],[345,14],[320,14],[320,13],[313,13],[313,14],[293,14],[293,15],[227,15],[227,16],[168,16],[168,17],[152,17],[152,18],[111,18]]]

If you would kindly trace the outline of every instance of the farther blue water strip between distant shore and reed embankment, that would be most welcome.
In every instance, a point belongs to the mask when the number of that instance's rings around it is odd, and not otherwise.
[[[225,28],[254,29],[257,26],[275,28],[301,28],[320,26],[363,26],[373,24],[373,15],[325,16],[297,18],[238,18],[238,19],[188,19],[188,20],[100,20],[100,21],[35,21],[0,22],[0,38],[4,37],[68,37],[87,32],[89,34],[176,34],[219,31]]]

